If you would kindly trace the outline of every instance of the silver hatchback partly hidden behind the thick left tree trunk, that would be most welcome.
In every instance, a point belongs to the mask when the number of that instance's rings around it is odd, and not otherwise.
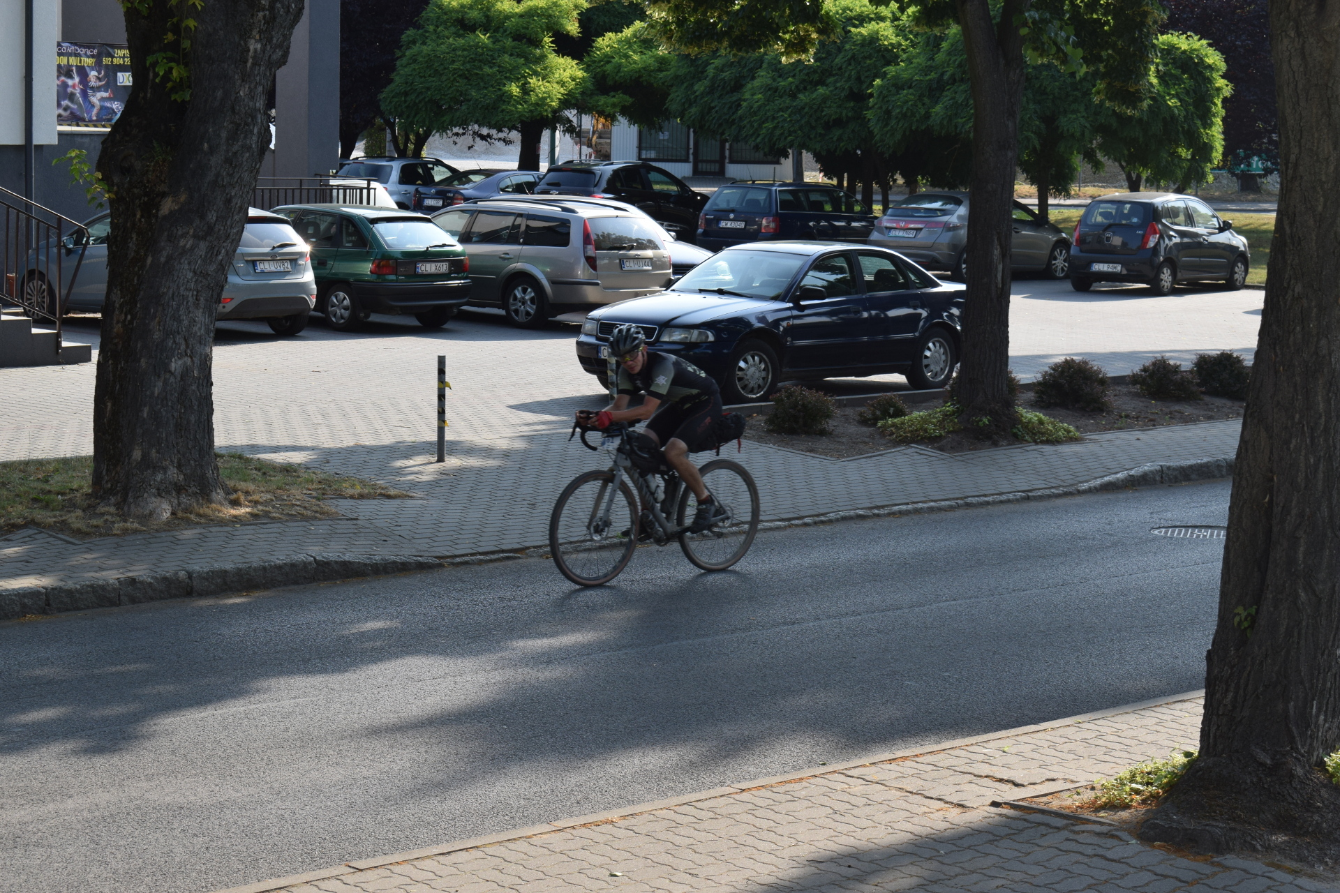
[[[62,250],[74,256],[84,249],[79,274],[70,289],[74,264],[62,264],[60,295],[70,291],[68,311],[102,312],[107,299],[107,236],[111,233],[111,214],[99,214],[87,224],[83,233],[67,236]],[[80,240],[87,238],[84,246]],[[40,250],[40,249],[39,249]],[[28,258],[24,288],[28,295],[46,291],[35,256]],[[224,320],[265,320],[277,335],[297,335],[307,327],[307,316],[316,303],[316,281],[312,277],[307,242],[297,237],[289,222],[279,214],[251,208],[247,225],[228,268],[228,281],[218,301],[216,317]]]

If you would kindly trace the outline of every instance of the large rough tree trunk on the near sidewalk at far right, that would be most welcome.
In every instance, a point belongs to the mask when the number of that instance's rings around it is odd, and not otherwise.
[[[1335,866],[1340,786],[1317,767],[1340,747],[1340,5],[1272,0],[1270,39],[1280,213],[1206,659],[1201,755],[1140,834]]]

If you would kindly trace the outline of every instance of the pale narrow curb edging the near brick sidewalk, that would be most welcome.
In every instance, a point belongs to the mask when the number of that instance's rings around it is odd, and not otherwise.
[[[800,782],[809,778],[817,778],[821,775],[832,775],[843,773],[851,768],[858,768],[860,766],[874,766],[876,763],[888,763],[894,760],[910,759],[914,756],[927,756],[930,754],[938,754],[947,750],[954,750],[958,747],[967,747],[970,744],[980,744],[984,742],[996,740],[1000,738],[1012,738],[1014,735],[1026,735],[1029,732],[1041,732],[1053,728],[1060,728],[1063,726],[1076,726],[1079,723],[1091,722],[1095,719],[1106,719],[1108,716],[1119,716],[1122,714],[1131,714],[1140,710],[1147,710],[1150,707],[1160,707],[1164,704],[1175,704],[1185,700],[1194,700],[1205,695],[1203,689],[1182,692],[1181,695],[1168,695],[1166,698],[1155,698],[1151,700],[1143,700],[1135,704],[1123,704],[1122,707],[1110,707],[1107,710],[1099,710],[1089,714],[1080,714],[1077,716],[1067,716],[1064,719],[1056,719],[1048,723],[1034,723],[1032,726],[1020,726],[1017,728],[1006,728],[996,732],[988,732],[985,735],[973,735],[970,738],[955,738],[947,742],[941,742],[938,744],[930,744],[926,747],[909,747],[899,751],[892,751],[887,754],[875,754],[874,756],[863,756],[860,759],[852,759],[843,763],[829,763],[825,766],[813,766],[809,768],[803,768],[796,773],[788,773],[785,775],[772,775],[769,778],[757,778],[748,782],[740,782],[734,785],[726,785],[724,787],[714,787],[706,791],[695,791],[693,794],[685,794],[681,797],[670,797],[661,801],[651,801],[647,803],[638,803],[635,806],[627,806],[624,809],[610,810],[606,813],[594,813],[591,815],[578,815],[574,818],[561,818],[552,822],[544,822],[540,825],[531,825],[527,827],[511,829],[507,831],[498,831],[496,834],[484,834],[481,837],[470,837],[461,841],[452,841],[450,843],[440,843],[437,846],[425,846],[417,850],[407,850],[403,853],[391,853],[387,856],[377,856],[366,860],[352,860],[344,862],[343,865],[334,865],[326,869],[316,869],[314,872],[304,872],[302,874],[289,874],[287,877],[271,878],[268,881],[256,881],[255,884],[244,884],[241,886],[230,886],[222,890],[214,890],[213,893],[272,893],[273,890],[281,890],[287,886],[295,886],[297,884],[310,884],[312,881],[322,881],[331,877],[339,877],[342,874],[352,874],[354,872],[363,872],[367,869],[382,868],[386,865],[398,865],[401,862],[409,862],[411,860],[421,860],[430,856],[445,856],[448,853],[458,853],[461,850],[469,850],[478,846],[488,846],[490,843],[503,843],[507,841],[523,839],[527,837],[535,837],[537,834],[549,834],[553,831],[561,831],[572,827],[583,827],[587,825],[599,825],[610,822],[614,819],[628,818],[631,815],[641,815],[643,813],[651,813],[655,810],[670,809],[674,806],[683,806],[687,803],[698,803],[702,801],[716,799],[718,797],[730,797],[733,794],[740,794],[744,791],[757,790],[760,787],[772,787],[776,785],[789,785],[792,782]],[[1073,783],[1067,783],[1064,789],[1075,787]],[[1073,817],[1079,818],[1079,817]],[[1088,821],[1087,818],[1079,821]]]

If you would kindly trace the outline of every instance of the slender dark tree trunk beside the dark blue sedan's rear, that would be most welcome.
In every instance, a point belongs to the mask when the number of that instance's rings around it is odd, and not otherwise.
[[[1009,394],[1010,213],[1024,94],[1024,39],[1016,20],[1030,0],[1005,0],[1000,24],[988,0],[955,3],[973,92],[959,420],[978,436],[1006,439],[1018,420]]]

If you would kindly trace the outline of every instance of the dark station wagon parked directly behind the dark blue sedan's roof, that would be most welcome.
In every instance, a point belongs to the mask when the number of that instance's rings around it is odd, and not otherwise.
[[[702,209],[698,244],[720,250],[779,238],[864,242],[874,228],[875,216],[832,183],[734,182]]]

